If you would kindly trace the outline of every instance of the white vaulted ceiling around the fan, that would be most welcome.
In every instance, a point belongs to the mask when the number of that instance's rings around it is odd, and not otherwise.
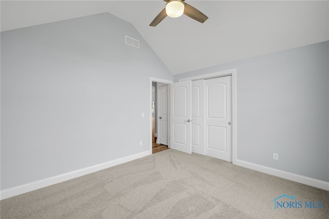
[[[193,1],[209,19],[183,15],[150,27],[151,1],[1,1],[1,31],[109,12],[132,23],[172,74],[329,40],[329,1]]]

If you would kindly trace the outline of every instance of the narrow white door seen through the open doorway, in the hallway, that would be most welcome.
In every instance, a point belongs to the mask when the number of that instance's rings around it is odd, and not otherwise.
[[[168,85],[158,86],[157,143],[168,145]]]

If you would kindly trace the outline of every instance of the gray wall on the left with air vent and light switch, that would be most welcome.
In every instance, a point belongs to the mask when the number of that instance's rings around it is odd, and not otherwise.
[[[149,151],[150,77],[173,80],[109,13],[2,32],[1,190]]]

